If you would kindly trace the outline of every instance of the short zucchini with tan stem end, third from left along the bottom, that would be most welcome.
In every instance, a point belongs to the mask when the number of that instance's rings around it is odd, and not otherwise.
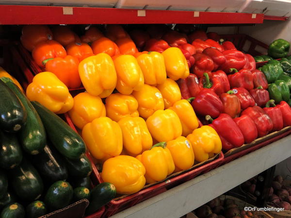
[[[73,188],[65,181],[57,181],[49,187],[45,196],[45,203],[50,210],[61,209],[71,202]]]

